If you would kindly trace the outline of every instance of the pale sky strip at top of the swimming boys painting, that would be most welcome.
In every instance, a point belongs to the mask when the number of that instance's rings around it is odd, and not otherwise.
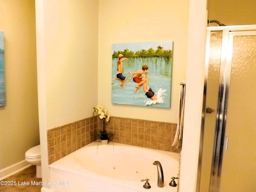
[[[157,49],[158,46],[164,47],[165,50],[172,50],[172,41],[157,41],[157,42],[140,42],[140,43],[123,43],[123,44],[113,44],[113,51],[122,51],[126,48],[128,50],[136,52],[138,50],[148,50],[149,48]]]

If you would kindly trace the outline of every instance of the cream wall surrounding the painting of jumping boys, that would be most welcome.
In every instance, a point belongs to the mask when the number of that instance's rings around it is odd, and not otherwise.
[[[110,115],[177,122],[180,82],[186,80],[188,8],[189,0],[99,0],[98,103]],[[166,40],[174,42],[171,108],[112,104],[112,44]]]

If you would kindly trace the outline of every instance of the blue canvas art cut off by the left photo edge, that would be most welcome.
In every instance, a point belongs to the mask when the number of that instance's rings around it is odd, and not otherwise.
[[[0,31],[0,107],[6,106],[4,72],[4,32]]]

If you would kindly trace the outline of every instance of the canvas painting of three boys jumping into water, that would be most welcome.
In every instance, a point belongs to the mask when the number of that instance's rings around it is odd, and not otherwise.
[[[112,103],[170,108],[172,41],[112,45]]]

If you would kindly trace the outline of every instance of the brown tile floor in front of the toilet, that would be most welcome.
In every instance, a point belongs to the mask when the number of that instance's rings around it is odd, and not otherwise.
[[[2,181],[4,181],[6,184],[16,183],[16,185],[2,185]],[[37,182],[37,184],[40,184],[42,181],[42,179],[36,178],[36,166],[30,166],[12,176],[9,176],[8,178],[5,178],[2,181],[0,185],[0,192],[40,192],[42,188],[41,185],[33,185],[33,183],[36,184]],[[28,185],[22,185],[25,183]]]

